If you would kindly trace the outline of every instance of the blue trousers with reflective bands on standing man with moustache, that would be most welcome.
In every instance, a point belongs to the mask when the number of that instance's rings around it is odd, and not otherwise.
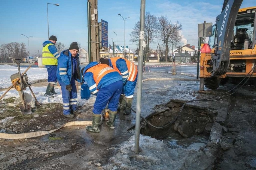
[[[60,83],[63,101],[63,114],[69,115],[70,110],[76,110],[77,104],[77,91],[75,86],[75,79],[71,80],[71,92],[66,89],[66,84]]]

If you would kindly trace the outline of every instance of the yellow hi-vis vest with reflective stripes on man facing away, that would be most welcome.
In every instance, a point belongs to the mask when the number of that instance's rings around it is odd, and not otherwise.
[[[50,45],[53,45],[53,44],[49,43],[49,44],[47,44],[43,47],[42,64],[43,65],[56,65],[57,66],[57,59],[54,57],[54,55],[48,49],[48,47]]]

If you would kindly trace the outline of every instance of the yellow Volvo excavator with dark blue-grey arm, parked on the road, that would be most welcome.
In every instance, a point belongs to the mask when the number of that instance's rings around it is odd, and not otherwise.
[[[240,8],[242,0],[225,0],[209,37],[210,53],[201,53],[200,88],[217,89],[231,80],[238,84],[256,62],[256,6]],[[247,82],[256,87],[256,69]]]

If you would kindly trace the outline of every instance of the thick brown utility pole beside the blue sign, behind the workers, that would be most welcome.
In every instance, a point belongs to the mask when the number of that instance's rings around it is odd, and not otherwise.
[[[91,33],[91,39],[88,43],[90,44],[89,47],[91,47],[91,61],[99,62],[99,39],[97,38],[99,37],[98,0],[88,0],[88,2],[90,3],[90,15],[88,14],[90,16],[90,25],[88,27],[90,27]]]

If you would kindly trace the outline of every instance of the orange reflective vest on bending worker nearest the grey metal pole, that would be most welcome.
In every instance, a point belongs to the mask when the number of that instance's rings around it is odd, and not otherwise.
[[[111,63],[113,65],[113,68],[115,70],[117,70],[120,75],[122,75],[121,72],[119,71],[119,69],[116,66],[116,62],[117,62],[118,59],[120,59],[120,57],[110,58]],[[133,62],[130,62],[129,60],[127,60],[125,58],[122,58],[122,59],[125,60],[126,66],[128,68],[128,71],[129,71],[129,76],[128,76],[127,80],[134,81],[136,79],[136,76],[137,76],[137,73],[138,73],[137,66],[135,66],[135,64]]]

